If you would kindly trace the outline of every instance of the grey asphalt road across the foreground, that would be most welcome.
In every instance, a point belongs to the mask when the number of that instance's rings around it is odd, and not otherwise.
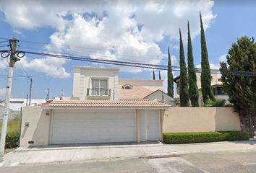
[[[76,164],[53,164],[0,168],[0,173],[45,172],[161,172],[161,173],[255,173],[256,151],[223,151],[210,154],[186,154],[152,159],[111,159]]]

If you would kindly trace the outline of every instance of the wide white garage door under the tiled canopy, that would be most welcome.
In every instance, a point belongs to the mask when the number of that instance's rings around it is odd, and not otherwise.
[[[54,112],[51,143],[135,141],[135,110]]]

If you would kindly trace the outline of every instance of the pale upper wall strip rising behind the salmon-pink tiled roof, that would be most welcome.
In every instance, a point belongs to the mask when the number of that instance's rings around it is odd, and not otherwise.
[[[160,89],[163,91],[163,80],[150,80],[150,79],[119,79],[119,86],[131,84],[132,86],[143,86],[152,91]]]

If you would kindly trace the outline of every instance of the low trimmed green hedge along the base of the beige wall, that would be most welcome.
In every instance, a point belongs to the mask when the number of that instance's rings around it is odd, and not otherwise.
[[[196,133],[163,133],[164,143],[205,143],[249,140],[246,131],[219,131]]]

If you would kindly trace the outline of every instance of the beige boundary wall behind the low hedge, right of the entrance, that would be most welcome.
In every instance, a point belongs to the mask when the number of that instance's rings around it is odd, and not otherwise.
[[[163,116],[163,133],[241,130],[231,107],[171,107]]]

